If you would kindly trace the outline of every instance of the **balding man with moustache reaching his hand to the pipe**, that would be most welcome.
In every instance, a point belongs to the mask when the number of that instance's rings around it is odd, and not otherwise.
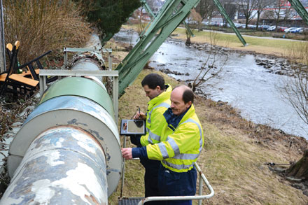
[[[170,108],[164,113],[167,125],[160,143],[141,148],[123,148],[125,159],[161,160],[158,189],[161,196],[189,196],[196,193],[195,162],[204,145],[202,126],[193,106],[194,94],[186,85],[172,91]],[[191,200],[166,201],[160,204],[192,204]]]

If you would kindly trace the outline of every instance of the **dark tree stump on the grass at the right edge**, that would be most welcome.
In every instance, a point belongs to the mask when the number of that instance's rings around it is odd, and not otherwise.
[[[304,178],[308,180],[308,150],[304,150],[304,156],[286,171],[287,176],[294,178]]]

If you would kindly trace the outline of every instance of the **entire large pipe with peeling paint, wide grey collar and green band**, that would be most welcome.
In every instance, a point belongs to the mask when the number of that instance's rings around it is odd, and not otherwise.
[[[83,58],[73,69],[89,67],[100,69]],[[108,204],[122,155],[113,103],[98,81],[63,78],[44,92],[10,143],[12,180],[0,204]]]

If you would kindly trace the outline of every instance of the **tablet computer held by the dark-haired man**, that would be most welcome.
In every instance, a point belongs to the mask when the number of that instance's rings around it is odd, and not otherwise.
[[[121,120],[120,135],[146,134],[146,121],[144,120]]]

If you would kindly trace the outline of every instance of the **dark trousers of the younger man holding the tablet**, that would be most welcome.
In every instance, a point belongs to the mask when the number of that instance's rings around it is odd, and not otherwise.
[[[160,161],[158,160],[140,160],[144,165],[146,173],[144,174],[145,197],[158,197],[158,169]],[[146,202],[146,205],[160,205],[160,202]]]

